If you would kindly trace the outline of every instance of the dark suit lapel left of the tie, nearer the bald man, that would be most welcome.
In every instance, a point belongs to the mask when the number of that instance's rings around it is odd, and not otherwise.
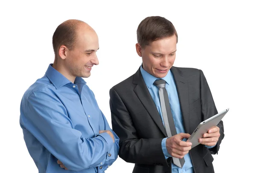
[[[154,104],[154,100],[152,99],[148,88],[144,82],[144,79],[141,75],[140,68],[139,70],[134,74],[134,84],[137,84],[137,86],[134,88],[134,92],[144,105],[145,109],[148,111],[149,115],[152,117],[154,122],[157,124],[158,128],[163,132],[163,134],[167,137],[166,130],[163,126],[162,119],[157,111],[157,107]]]

